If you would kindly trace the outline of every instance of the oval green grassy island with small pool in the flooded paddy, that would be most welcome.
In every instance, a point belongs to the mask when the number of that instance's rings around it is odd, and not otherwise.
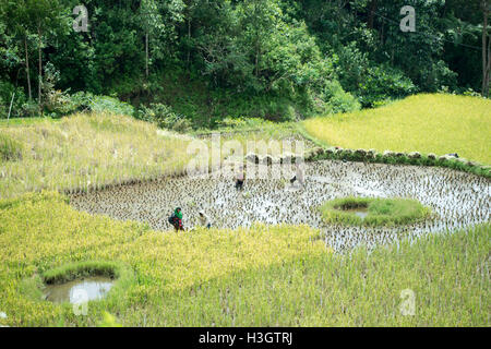
[[[338,197],[326,202],[320,208],[326,222],[357,226],[406,225],[429,217],[431,210],[416,200]],[[357,215],[356,209],[366,210],[366,216]]]

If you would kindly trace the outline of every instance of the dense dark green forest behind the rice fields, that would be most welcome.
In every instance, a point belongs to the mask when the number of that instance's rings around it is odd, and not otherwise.
[[[415,9],[414,31],[402,31],[405,5]],[[489,8],[487,0],[0,0],[0,118],[105,104],[189,129],[238,117],[298,120],[421,92],[488,96]]]

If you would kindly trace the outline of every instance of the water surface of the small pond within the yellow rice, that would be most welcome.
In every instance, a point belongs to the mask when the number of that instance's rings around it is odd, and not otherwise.
[[[104,276],[92,276],[59,285],[48,285],[45,299],[53,303],[77,303],[82,301],[99,300],[106,297],[113,280]]]

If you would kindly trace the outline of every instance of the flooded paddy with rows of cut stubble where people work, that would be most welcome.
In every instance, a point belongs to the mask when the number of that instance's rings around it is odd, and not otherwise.
[[[200,209],[219,228],[249,227],[254,221],[304,224],[319,228],[336,251],[360,244],[371,249],[400,237],[412,239],[490,219],[491,180],[447,168],[324,160],[306,164],[303,186],[291,185],[291,177],[292,172],[286,180],[248,179],[246,174],[243,191],[237,191],[233,179],[227,177],[165,178],[72,195],[71,205],[92,214],[145,221],[157,230],[172,229],[167,218],[176,207],[182,208],[187,228],[199,225]],[[416,198],[430,206],[434,217],[397,228],[326,225],[315,207],[344,196]]]

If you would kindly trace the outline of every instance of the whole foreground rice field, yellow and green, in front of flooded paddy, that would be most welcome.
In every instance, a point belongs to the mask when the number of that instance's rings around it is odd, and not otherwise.
[[[489,224],[371,254],[334,254],[319,237],[307,226],[153,231],[57,193],[3,200],[0,325],[96,326],[107,312],[124,326],[489,326]],[[40,300],[43,273],[87,261],[132,278],[86,315]]]

